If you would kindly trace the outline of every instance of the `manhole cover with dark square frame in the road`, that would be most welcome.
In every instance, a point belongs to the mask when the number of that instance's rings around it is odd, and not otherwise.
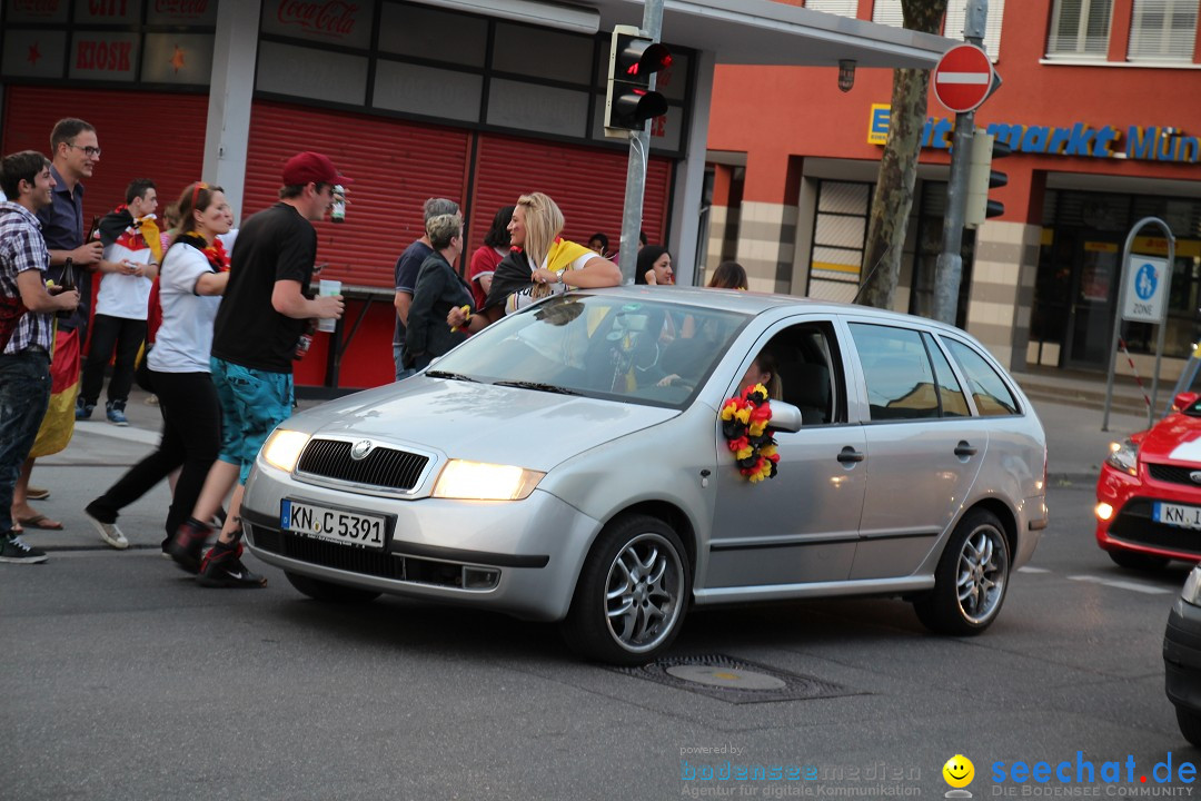
[[[718,698],[730,704],[800,701],[811,698],[866,694],[814,676],[777,670],[722,653],[670,657],[641,668],[615,668],[615,670],[691,693]]]

